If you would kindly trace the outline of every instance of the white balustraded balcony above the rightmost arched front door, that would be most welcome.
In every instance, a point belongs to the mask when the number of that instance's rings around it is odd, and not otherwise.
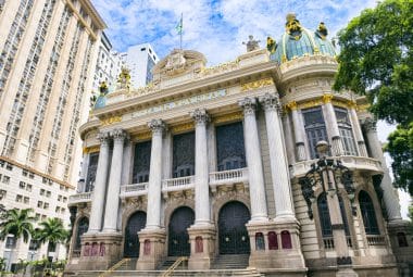
[[[243,184],[248,186],[248,167],[210,173],[210,188],[216,191],[218,186]]]

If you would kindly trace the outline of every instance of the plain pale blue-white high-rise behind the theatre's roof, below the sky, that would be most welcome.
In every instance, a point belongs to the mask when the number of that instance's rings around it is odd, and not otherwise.
[[[132,87],[145,87],[152,81],[152,68],[159,58],[151,45],[141,43],[129,47],[123,56],[126,67],[130,71]]]

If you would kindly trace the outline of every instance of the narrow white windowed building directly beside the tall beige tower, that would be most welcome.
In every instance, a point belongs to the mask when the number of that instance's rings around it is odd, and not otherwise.
[[[99,46],[98,62],[93,77],[93,91],[98,91],[99,84],[105,81],[108,86],[116,84],[117,76],[125,65],[125,54],[112,50],[112,45],[104,33],[102,33]]]

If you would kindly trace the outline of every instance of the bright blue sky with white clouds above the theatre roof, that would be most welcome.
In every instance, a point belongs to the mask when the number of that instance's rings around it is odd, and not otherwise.
[[[285,17],[297,14],[301,24],[315,29],[325,22],[333,37],[350,18],[374,0],[92,0],[108,25],[114,50],[149,42],[160,58],[179,47],[175,26],[184,14],[183,47],[202,52],[210,65],[234,60],[245,51],[248,35],[265,46],[267,36],[278,41]]]

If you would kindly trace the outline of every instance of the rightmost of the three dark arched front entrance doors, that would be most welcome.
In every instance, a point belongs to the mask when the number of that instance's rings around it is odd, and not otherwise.
[[[220,254],[249,254],[250,239],[246,224],[251,218],[248,207],[238,201],[226,203],[220,211]]]

